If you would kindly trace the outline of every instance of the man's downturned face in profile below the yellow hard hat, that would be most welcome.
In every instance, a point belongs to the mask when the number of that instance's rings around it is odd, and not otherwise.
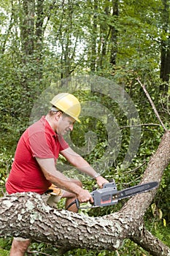
[[[71,116],[64,116],[63,114],[58,119],[56,131],[58,135],[66,135],[67,132],[72,132],[75,119]]]

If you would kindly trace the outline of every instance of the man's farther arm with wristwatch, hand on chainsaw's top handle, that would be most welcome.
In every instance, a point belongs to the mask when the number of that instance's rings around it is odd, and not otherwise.
[[[70,162],[71,165],[77,167],[77,169],[83,173],[88,174],[88,176],[95,178],[99,187],[102,187],[103,184],[108,183],[107,179],[96,173],[96,170],[94,170],[93,167],[91,167],[89,163],[80,156],[80,154],[73,151],[72,148],[69,147],[64,149],[61,151],[61,154],[63,157],[66,157],[67,161]]]

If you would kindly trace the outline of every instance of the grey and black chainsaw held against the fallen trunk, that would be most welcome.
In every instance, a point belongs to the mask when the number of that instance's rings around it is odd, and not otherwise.
[[[154,189],[155,187],[158,187],[157,181],[152,181],[117,191],[115,181],[112,180],[112,182],[104,184],[101,189],[95,189],[93,190],[93,192],[90,192],[90,194],[93,197],[93,206],[80,207],[80,202],[78,199],[76,199],[67,208],[72,206],[72,204],[74,203],[76,203],[78,209],[112,206],[116,204],[119,200],[122,200],[127,197],[132,197],[143,192],[148,192],[151,189]]]

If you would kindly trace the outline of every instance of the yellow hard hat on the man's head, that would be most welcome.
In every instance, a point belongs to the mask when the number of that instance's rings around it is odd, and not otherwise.
[[[58,110],[63,111],[69,116],[72,116],[76,121],[80,122],[79,116],[81,111],[81,106],[79,100],[72,94],[61,93],[57,94],[50,103],[58,108]]]

